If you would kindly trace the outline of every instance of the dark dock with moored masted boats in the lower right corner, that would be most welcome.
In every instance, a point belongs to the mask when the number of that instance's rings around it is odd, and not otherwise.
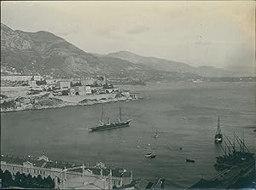
[[[235,140],[239,144],[239,151],[236,150]],[[217,157],[217,163],[214,164],[215,169],[221,172],[209,180],[201,178],[189,188],[236,188],[239,181],[255,174],[255,154],[250,153],[244,140],[234,133],[233,143],[226,137],[224,145],[228,146],[228,143],[231,145],[228,151],[220,145],[224,150],[224,155]]]

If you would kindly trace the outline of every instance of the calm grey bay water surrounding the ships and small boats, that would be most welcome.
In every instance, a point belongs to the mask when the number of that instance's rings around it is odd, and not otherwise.
[[[217,174],[213,164],[222,154],[213,137],[218,115],[224,134],[244,132],[255,150],[255,83],[150,83],[126,86],[144,99],[121,102],[129,128],[89,133],[98,124],[102,106],[63,107],[1,113],[2,153],[133,170],[135,177],[166,178],[170,187],[189,187]],[[105,119],[117,119],[120,103],[105,105]],[[155,131],[159,137],[154,139]],[[150,146],[148,146],[150,144]],[[139,148],[137,148],[139,146]],[[183,147],[183,150],[180,150]],[[145,158],[149,151],[154,159]],[[195,159],[195,164],[186,163]]]

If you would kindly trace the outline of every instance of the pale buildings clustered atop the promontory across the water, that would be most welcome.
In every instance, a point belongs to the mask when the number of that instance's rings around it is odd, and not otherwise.
[[[113,85],[107,83],[106,78],[49,78],[25,75],[1,76],[1,83],[5,86],[30,86],[32,89],[52,91],[53,95],[91,95],[118,92]],[[112,85],[112,86],[111,86]],[[65,91],[63,93],[63,91]],[[127,92],[126,92],[127,93]]]

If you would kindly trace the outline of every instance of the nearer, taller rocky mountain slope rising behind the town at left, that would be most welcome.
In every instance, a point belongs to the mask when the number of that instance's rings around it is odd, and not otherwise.
[[[1,66],[56,77],[95,74],[108,68],[96,56],[50,32],[14,31],[1,23]]]

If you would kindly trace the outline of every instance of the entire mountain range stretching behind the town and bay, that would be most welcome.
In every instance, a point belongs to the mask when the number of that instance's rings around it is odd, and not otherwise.
[[[54,78],[105,75],[135,81],[229,77],[232,72],[119,51],[90,54],[50,32],[23,32],[1,23],[1,73],[41,74]]]

